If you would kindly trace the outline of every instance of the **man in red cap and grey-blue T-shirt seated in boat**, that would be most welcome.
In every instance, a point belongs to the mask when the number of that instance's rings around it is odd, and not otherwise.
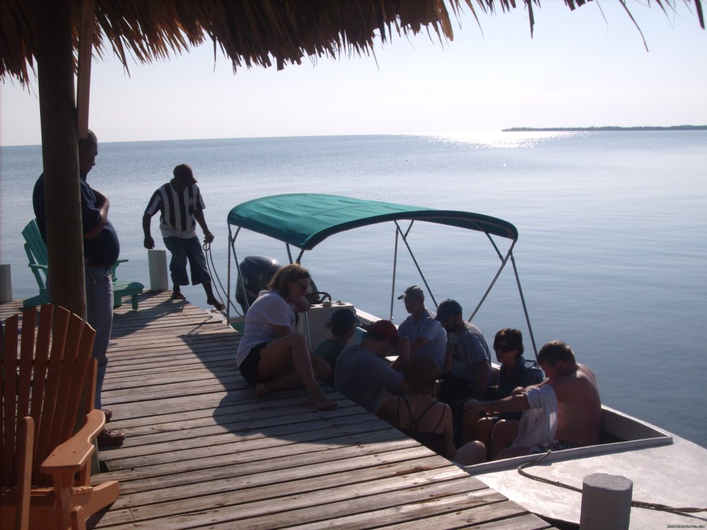
[[[398,358],[390,365],[385,360],[393,349]],[[407,384],[399,368],[410,358],[410,341],[398,336],[389,320],[373,322],[361,344],[341,352],[334,384],[341,394],[370,412],[378,409],[387,391],[403,394]]]

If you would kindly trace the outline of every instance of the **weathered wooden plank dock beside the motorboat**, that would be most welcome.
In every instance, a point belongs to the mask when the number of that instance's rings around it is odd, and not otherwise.
[[[333,390],[334,411],[256,399],[238,337],[169,293],[116,311],[103,404],[127,439],[95,481],[121,495],[88,528],[551,528]]]

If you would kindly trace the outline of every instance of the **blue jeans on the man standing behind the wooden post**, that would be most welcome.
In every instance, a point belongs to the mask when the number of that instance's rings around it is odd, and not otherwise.
[[[110,271],[86,266],[86,319],[95,329],[93,358],[98,361],[95,382],[95,408],[101,408],[100,393],[108,367],[108,343],[113,326],[113,280]]]

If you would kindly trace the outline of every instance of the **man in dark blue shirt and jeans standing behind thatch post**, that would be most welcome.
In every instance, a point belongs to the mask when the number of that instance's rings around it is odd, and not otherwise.
[[[98,139],[93,131],[78,141],[78,170],[81,175],[81,219],[83,222],[83,259],[86,272],[86,320],[96,331],[93,357],[98,361],[95,387],[95,408],[103,409],[101,391],[108,366],[108,342],[113,325],[113,282],[111,267],[120,254],[120,244],[115,228],[108,220],[110,203],[107,197],[86,182],[88,172],[98,156]],[[32,194],[32,204],[42,239],[47,241],[47,216],[45,211],[44,174],[40,175]],[[48,288],[51,289],[51,285]],[[103,409],[106,420],[112,412]],[[123,432],[104,429],[98,435],[99,446],[122,444]]]

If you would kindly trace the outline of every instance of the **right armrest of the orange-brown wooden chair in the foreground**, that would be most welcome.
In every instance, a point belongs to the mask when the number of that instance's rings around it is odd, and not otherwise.
[[[74,436],[59,445],[49,457],[42,462],[42,473],[51,475],[76,473],[89,462],[95,450],[93,440],[105,425],[105,414],[94,408],[86,415],[86,425]]]

